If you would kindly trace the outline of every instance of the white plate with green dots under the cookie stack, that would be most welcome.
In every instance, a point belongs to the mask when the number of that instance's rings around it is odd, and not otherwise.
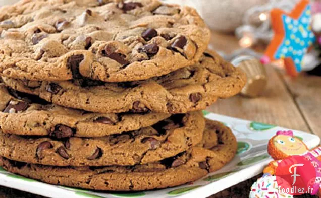
[[[51,198],[84,198],[84,197],[198,197],[205,198],[220,192],[237,183],[247,180],[262,172],[271,158],[267,154],[267,142],[278,130],[289,130],[272,125],[251,122],[228,116],[203,111],[208,119],[224,122],[232,128],[238,140],[238,155],[223,169],[208,174],[206,177],[184,186],[163,190],[152,190],[132,193],[94,192],[62,186],[49,185],[32,179],[27,179],[0,169],[0,185],[43,195]],[[318,136],[293,130],[294,135],[303,139],[311,149],[320,143]]]

